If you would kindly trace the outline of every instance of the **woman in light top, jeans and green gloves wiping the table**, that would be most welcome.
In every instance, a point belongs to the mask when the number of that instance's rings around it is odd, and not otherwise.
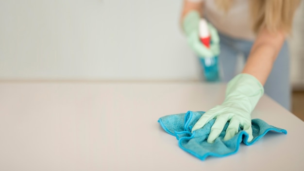
[[[192,128],[202,128],[216,118],[207,139],[215,141],[229,121],[224,140],[235,136],[239,126],[253,139],[251,112],[264,93],[290,108],[288,48],[285,41],[300,0],[184,0],[183,29],[190,47],[199,56],[219,55],[224,81],[229,81],[221,105],[207,111]],[[198,37],[201,17],[209,21],[211,47]],[[219,41],[220,39],[220,41]],[[220,46],[219,46],[220,42]],[[236,57],[246,64],[234,76]]]

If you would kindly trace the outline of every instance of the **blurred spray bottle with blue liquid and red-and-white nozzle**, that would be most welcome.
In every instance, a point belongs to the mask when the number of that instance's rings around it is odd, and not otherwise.
[[[208,30],[208,25],[205,19],[200,20],[199,35],[201,42],[207,47],[210,47],[211,36]],[[199,57],[203,66],[204,77],[208,82],[220,81],[219,68],[218,68],[218,56],[203,56]]]

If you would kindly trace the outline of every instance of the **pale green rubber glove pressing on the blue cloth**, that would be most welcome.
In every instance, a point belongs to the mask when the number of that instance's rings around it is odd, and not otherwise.
[[[240,126],[249,134],[248,141],[252,141],[250,114],[263,94],[264,87],[254,76],[244,73],[236,75],[227,85],[224,102],[204,113],[193,126],[192,132],[216,118],[207,142],[213,143],[220,136],[227,121],[229,125],[224,140],[234,137]]]

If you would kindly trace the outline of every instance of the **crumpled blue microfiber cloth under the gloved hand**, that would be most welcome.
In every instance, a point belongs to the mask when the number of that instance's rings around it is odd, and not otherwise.
[[[235,154],[241,142],[252,145],[269,131],[287,134],[285,129],[271,126],[260,119],[254,119],[252,120],[253,140],[251,142],[247,141],[248,134],[241,128],[238,129],[239,132],[235,137],[224,141],[223,138],[229,124],[227,122],[220,137],[210,144],[207,142],[207,138],[215,119],[210,120],[203,128],[194,131],[193,134],[191,133],[192,127],[204,113],[188,111],[186,114],[164,116],[158,122],[167,133],[176,136],[180,148],[201,160],[205,160],[208,156],[223,157]]]

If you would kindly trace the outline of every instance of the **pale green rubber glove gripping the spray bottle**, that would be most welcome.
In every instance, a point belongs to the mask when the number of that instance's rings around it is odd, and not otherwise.
[[[197,11],[190,11],[183,20],[183,28],[187,36],[189,46],[200,57],[213,57],[220,54],[220,37],[217,29],[208,23],[211,35],[210,49],[201,43],[199,36],[200,14]]]

